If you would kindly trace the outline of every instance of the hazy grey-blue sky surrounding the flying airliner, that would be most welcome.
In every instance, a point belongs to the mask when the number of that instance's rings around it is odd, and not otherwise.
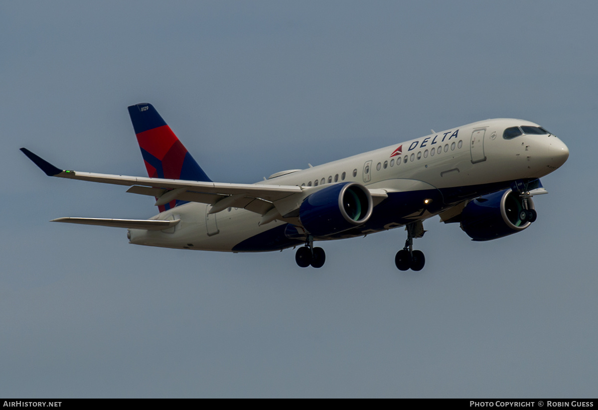
[[[595,397],[593,2],[0,2],[0,396]],[[294,251],[127,244],[60,216],[151,198],[47,178],[145,175],[151,102],[210,178],[255,182],[485,118],[534,121],[569,161],[538,221],[474,243],[425,222]]]

